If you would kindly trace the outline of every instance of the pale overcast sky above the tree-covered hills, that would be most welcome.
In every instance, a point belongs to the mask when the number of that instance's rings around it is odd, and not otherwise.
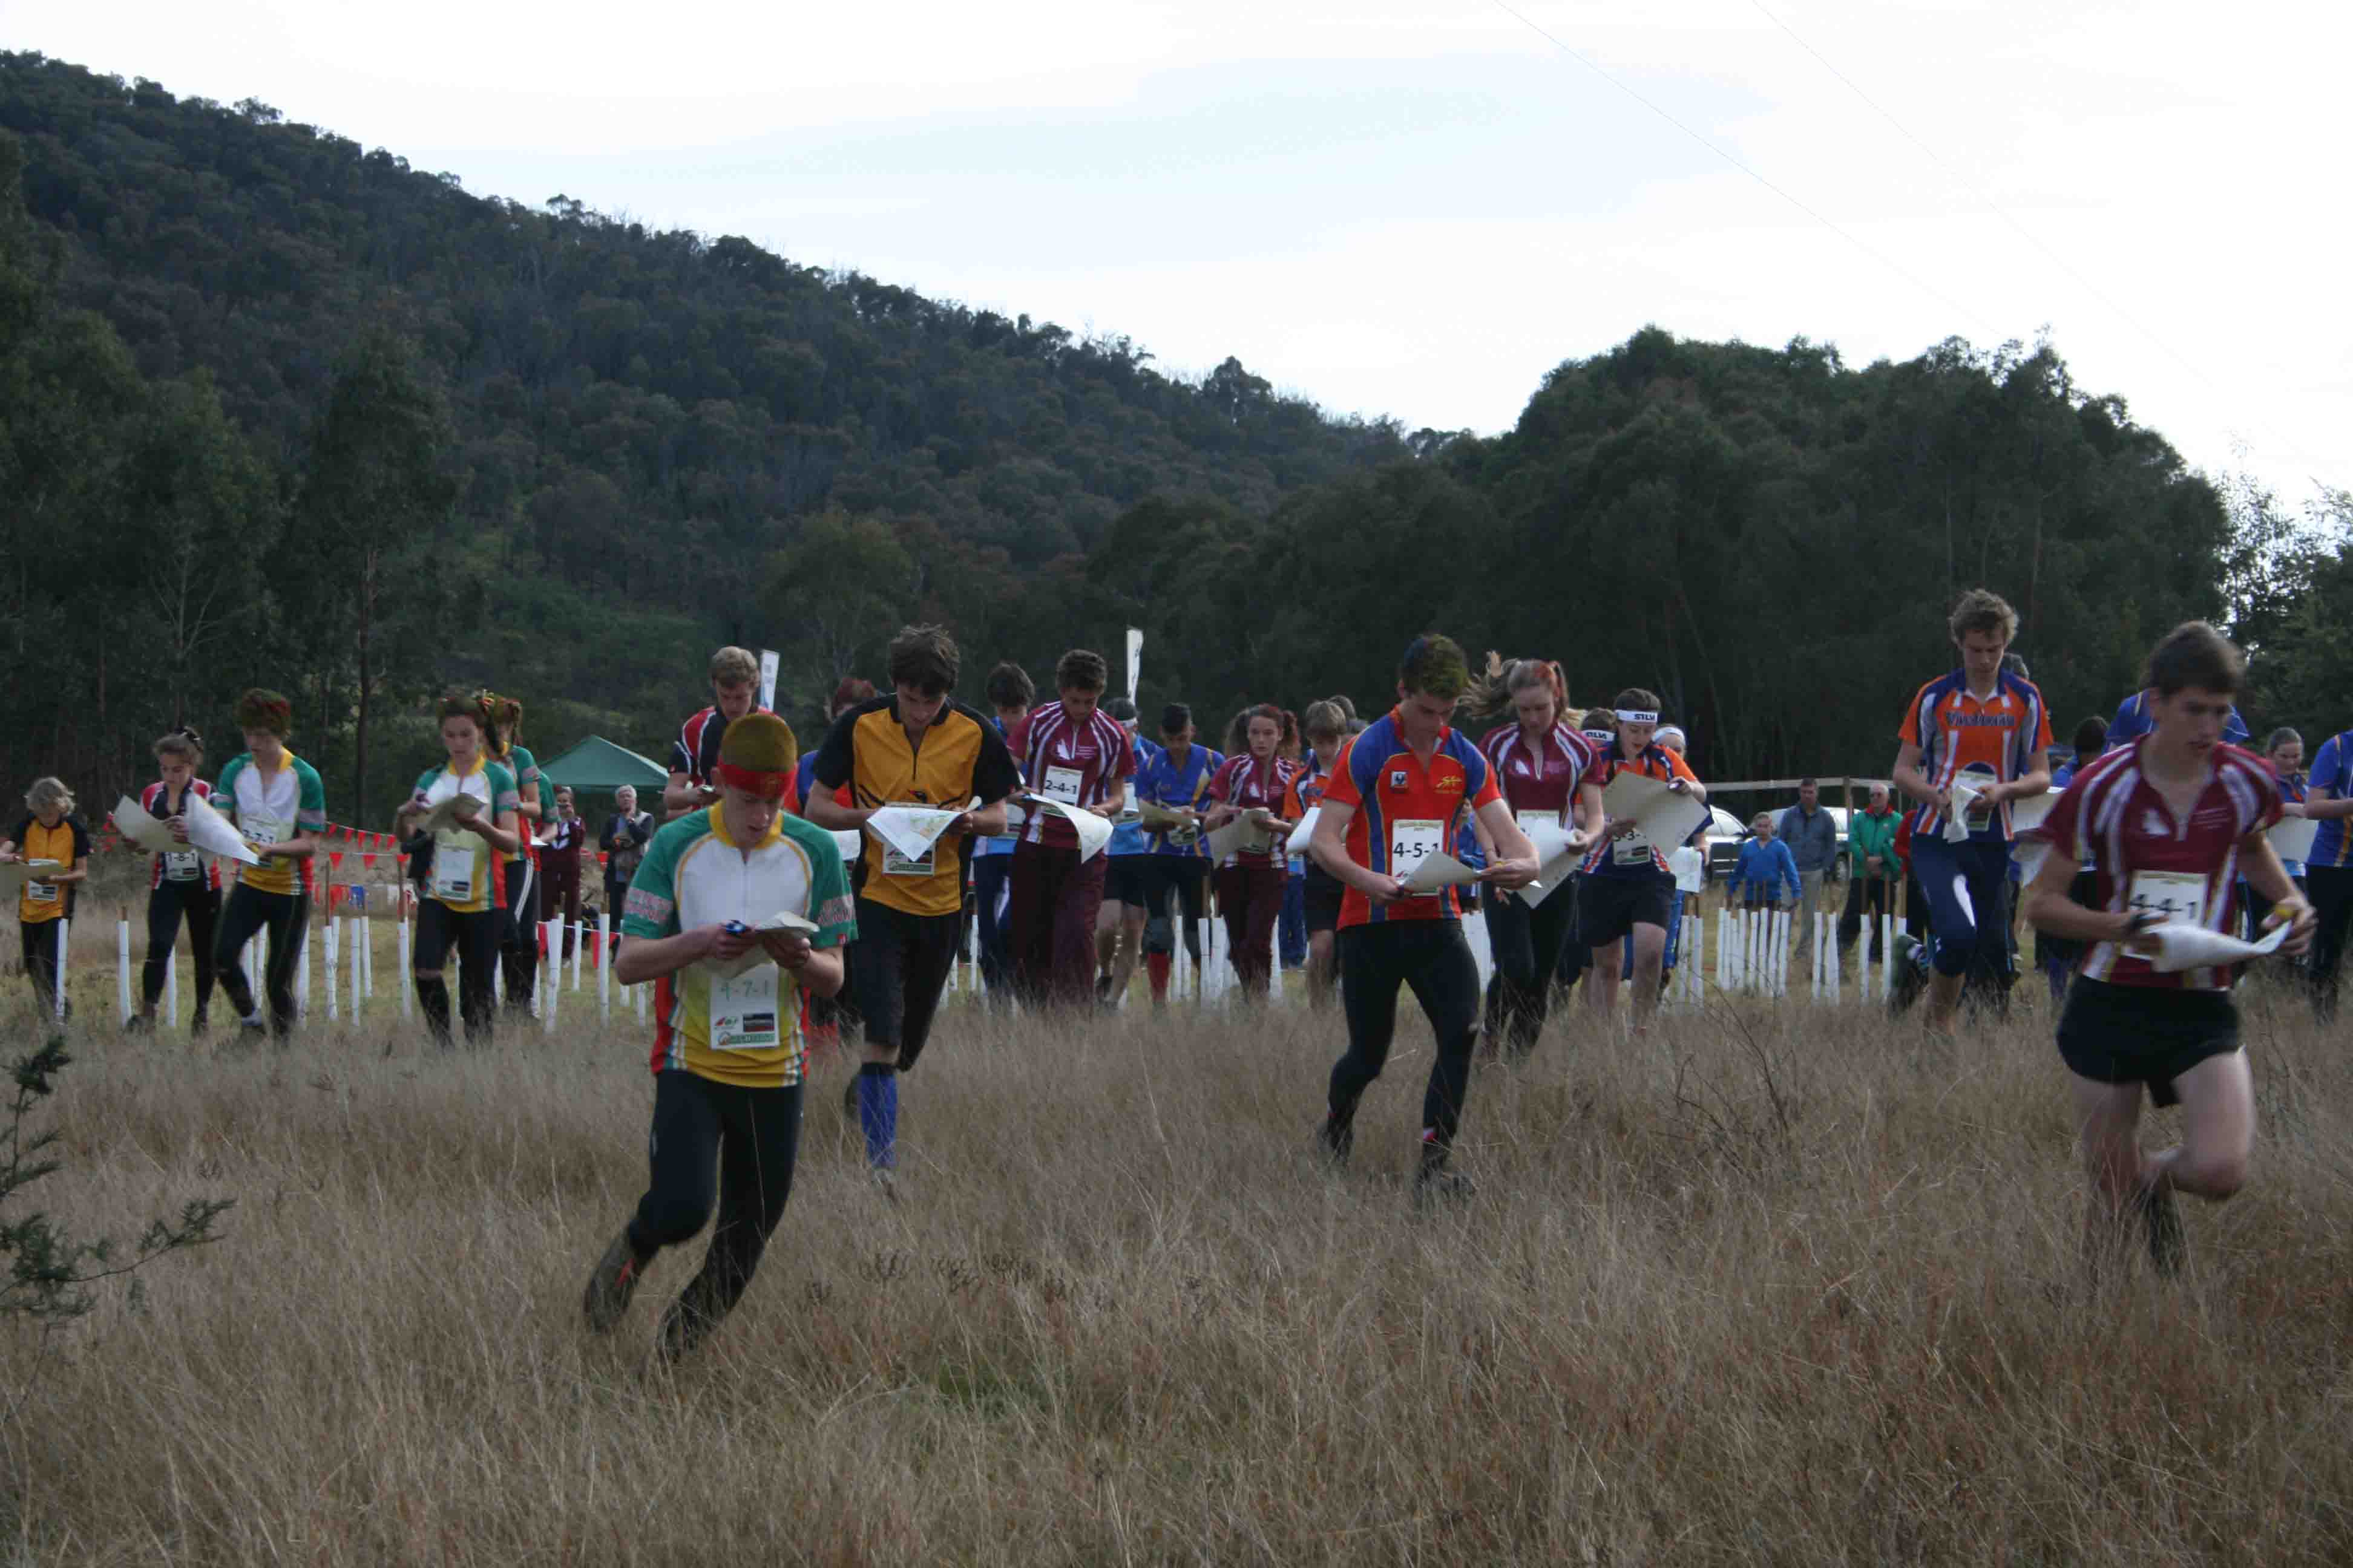
[[[0,0],[0,40],[1407,428],[1506,428],[1645,322],[2049,329],[2200,468],[2353,484],[2346,7]]]

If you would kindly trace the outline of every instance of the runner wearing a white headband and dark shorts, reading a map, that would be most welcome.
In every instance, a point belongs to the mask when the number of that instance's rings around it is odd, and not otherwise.
[[[1586,778],[1602,790],[1619,773],[1657,778],[1706,804],[1708,790],[1680,752],[1659,745],[1659,696],[1628,686],[1617,693],[1617,731]],[[1607,823],[1602,842],[1586,856],[1577,889],[1577,943],[1593,954],[1588,1001],[1602,1018],[1617,1018],[1619,940],[1633,938],[1633,1027],[1640,1034],[1659,1011],[1666,978],[1666,929],[1675,924],[1675,872],[1666,853],[1680,844],[1652,844],[1633,823]]]

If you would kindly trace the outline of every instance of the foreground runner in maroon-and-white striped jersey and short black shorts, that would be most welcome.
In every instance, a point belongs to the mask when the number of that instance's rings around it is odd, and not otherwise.
[[[2311,945],[2313,910],[2264,832],[2280,785],[2261,757],[2224,743],[2245,656],[2205,621],[2174,628],[2148,656],[2155,729],[2087,766],[2035,837],[2045,853],[2026,893],[2035,931],[2085,943],[2059,1016],[2059,1056],[2092,1171],[2094,1234],[2137,1211],[2160,1269],[2181,1255],[2172,1194],[2221,1201],[2247,1178],[2254,1081],[2238,1041],[2231,969],[2160,973],[2144,931],[2186,922],[2231,929],[2240,875],[2273,900],[2268,926],[2294,922],[2285,952]],[[2099,905],[2075,903],[2078,863],[2094,867]],[[2184,1107],[2181,1143],[2144,1154],[2141,1086]]]

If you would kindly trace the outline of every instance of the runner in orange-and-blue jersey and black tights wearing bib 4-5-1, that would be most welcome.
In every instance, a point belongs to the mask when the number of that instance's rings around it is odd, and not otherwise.
[[[1346,1161],[1358,1100],[1381,1077],[1398,1032],[1398,987],[1409,985],[1438,1034],[1421,1095],[1417,1201],[1471,1190],[1466,1178],[1447,1171],[1447,1157],[1471,1086],[1480,997],[1457,889],[1417,896],[1405,891],[1405,882],[1428,856],[1445,851],[1464,813],[1478,813],[1499,851],[1480,882],[1520,889],[1537,879],[1537,849],[1511,818],[1494,769],[1468,736],[1447,724],[1468,686],[1471,665],[1461,646],[1435,632],[1417,637],[1398,668],[1398,705],[1341,750],[1308,842],[1308,853],[1346,884],[1339,992],[1348,1051],[1332,1065],[1329,1112],[1318,1145],[1332,1161]]]

